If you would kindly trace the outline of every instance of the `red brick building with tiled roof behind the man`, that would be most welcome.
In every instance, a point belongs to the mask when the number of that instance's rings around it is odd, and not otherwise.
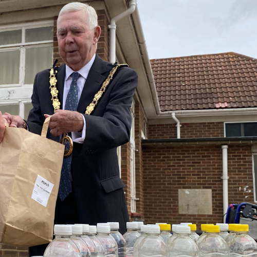
[[[0,2],[0,59],[16,72],[3,79],[6,71],[0,69],[2,112],[26,119],[34,75],[56,58],[62,63],[56,21],[69,2]],[[108,25],[128,9],[129,1],[83,2],[97,10],[102,29],[97,53],[109,60]],[[230,52],[150,61],[137,8],[116,25],[117,61],[130,65],[139,78],[131,141],[118,153],[131,219],[146,224],[221,222],[223,180],[228,181],[228,203],[253,203],[256,60]],[[0,256],[27,255],[27,248],[0,245]]]

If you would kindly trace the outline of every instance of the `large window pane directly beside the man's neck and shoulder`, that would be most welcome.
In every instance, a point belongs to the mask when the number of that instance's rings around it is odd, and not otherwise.
[[[52,46],[26,49],[25,84],[33,84],[35,75],[52,66]]]

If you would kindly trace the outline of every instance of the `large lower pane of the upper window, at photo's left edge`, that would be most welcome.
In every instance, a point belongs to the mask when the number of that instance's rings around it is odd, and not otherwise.
[[[0,52],[0,85],[19,84],[20,51]]]

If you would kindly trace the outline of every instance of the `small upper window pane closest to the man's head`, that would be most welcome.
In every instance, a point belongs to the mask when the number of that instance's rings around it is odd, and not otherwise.
[[[53,27],[43,27],[25,30],[25,42],[53,40]]]

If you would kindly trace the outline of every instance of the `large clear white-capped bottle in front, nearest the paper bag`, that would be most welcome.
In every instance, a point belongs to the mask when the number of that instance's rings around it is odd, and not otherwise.
[[[44,257],[80,257],[80,251],[71,241],[72,227],[54,225],[54,240],[47,246]]]

